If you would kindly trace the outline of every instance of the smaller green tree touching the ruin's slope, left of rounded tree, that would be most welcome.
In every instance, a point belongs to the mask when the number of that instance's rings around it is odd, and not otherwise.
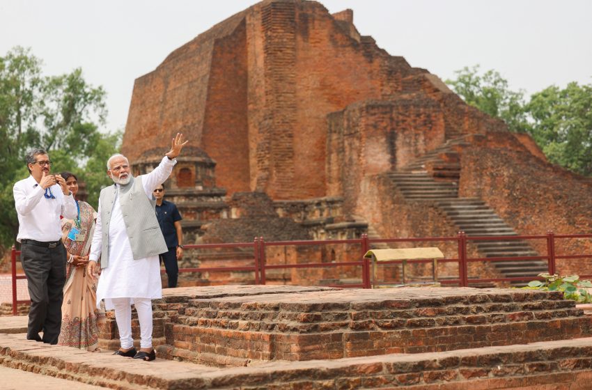
[[[513,132],[528,132],[530,125],[524,93],[514,92],[499,72],[488,70],[479,74],[479,65],[455,72],[455,80],[446,80],[462,100],[496,118],[501,118]]]

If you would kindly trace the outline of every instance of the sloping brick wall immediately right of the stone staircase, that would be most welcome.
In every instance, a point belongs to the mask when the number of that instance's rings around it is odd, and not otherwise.
[[[526,146],[525,146],[526,145]],[[531,145],[507,134],[489,133],[486,141],[463,150],[460,196],[483,199],[520,235],[592,233],[589,180],[545,162]],[[545,240],[530,240],[545,256]],[[558,254],[591,253],[592,240],[557,240]],[[557,260],[561,274],[591,274],[589,260]]]

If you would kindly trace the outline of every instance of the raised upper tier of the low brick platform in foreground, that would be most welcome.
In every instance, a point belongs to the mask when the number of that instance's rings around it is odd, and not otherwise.
[[[169,290],[161,357],[217,366],[554,341],[591,334],[559,292],[474,288]],[[209,297],[206,297],[209,296]]]

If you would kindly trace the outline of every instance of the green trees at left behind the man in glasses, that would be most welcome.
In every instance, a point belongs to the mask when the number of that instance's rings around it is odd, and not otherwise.
[[[0,254],[17,235],[13,185],[29,175],[27,150],[45,148],[54,162],[52,172],[72,171],[88,180],[89,195],[96,198],[93,192],[108,178],[104,168],[94,171],[95,161],[101,159],[104,166],[120,145],[121,132],[99,131],[107,116],[103,88],[88,84],[80,69],[47,77],[41,66],[22,47],[0,56]]]

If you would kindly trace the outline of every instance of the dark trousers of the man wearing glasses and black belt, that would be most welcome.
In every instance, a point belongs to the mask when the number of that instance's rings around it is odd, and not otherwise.
[[[55,248],[23,242],[21,263],[31,297],[26,338],[57,344],[62,324],[65,248],[61,242]],[[40,331],[43,338],[39,337]]]

